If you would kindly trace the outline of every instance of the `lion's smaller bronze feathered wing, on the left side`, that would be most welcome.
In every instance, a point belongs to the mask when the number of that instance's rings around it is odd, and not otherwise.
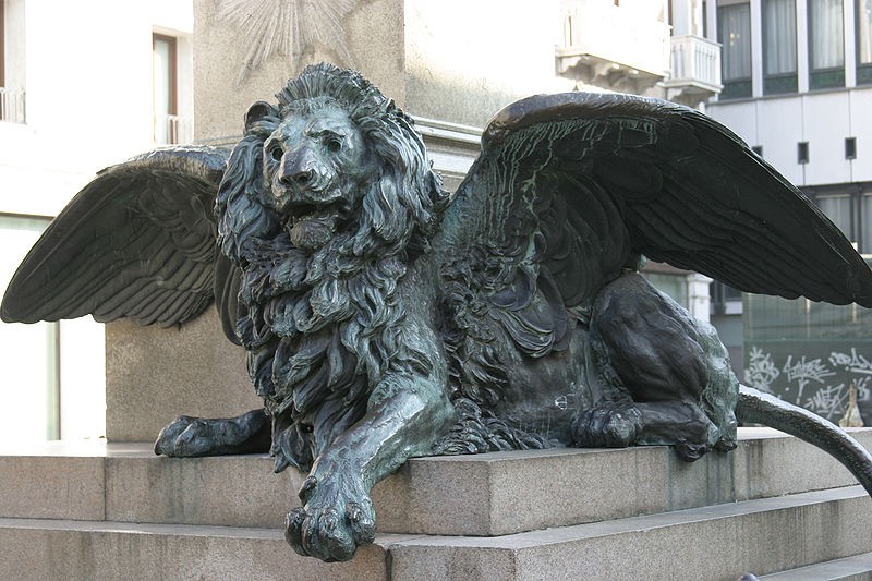
[[[101,171],[24,258],[2,319],[92,314],[167,327],[195,317],[213,296],[223,298],[220,312],[234,312],[226,291],[233,269],[216,263],[213,216],[227,157],[209,147],[158,149]]]

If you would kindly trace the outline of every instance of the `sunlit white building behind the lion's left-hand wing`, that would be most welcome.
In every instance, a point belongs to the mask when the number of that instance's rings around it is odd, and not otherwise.
[[[0,290],[96,169],[190,134],[192,19],[191,0],[0,2]],[[102,353],[89,318],[0,325],[0,438],[101,436]]]

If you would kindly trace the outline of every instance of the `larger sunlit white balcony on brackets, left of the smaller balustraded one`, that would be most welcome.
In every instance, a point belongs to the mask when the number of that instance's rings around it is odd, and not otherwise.
[[[652,13],[611,0],[576,0],[566,2],[564,23],[564,44],[556,47],[559,75],[631,93],[667,76],[669,26]]]

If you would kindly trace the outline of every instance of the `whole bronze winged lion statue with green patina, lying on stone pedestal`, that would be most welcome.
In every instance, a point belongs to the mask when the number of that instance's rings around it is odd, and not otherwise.
[[[670,445],[686,460],[763,423],[872,457],[740,386],[714,329],[643,256],[748,292],[872,306],[839,230],[729,130],[675,104],[571,93],[510,105],[453,195],[412,120],[360,74],[310,66],[245,116],[229,154],[111,167],[19,268],[4,320],[170,326],[213,299],[264,408],[179,417],[156,451],[269,449],[308,472],[286,536],[350,559],[373,485],[408,458]]]

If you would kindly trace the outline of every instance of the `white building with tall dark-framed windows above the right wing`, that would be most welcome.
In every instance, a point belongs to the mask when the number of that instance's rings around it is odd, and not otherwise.
[[[724,90],[736,131],[872,253],[872,0],[720,0]]]

